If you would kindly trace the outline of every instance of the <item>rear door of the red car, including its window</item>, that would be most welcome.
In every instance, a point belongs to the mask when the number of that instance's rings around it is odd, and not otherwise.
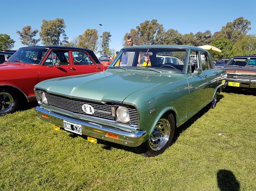
[[[86,74],[104,71],[103,64],[97,64],[89,55],[88,52],[83,51],[72,51],[73,59],[71,62],[76,67],[77,74]]]

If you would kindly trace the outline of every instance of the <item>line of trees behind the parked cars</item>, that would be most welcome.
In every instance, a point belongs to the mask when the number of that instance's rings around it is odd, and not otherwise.
[[[177,30],[164,29],[162,24],[157,20],[145,21],[131,29],[129,33],[124,35],[123,45],[127,46],[126,39],[132,36],[133,43],[136,45],[156,45],[156,44],[177,44],[177,45],[213,45],[222,50],[221,55],[212,55],[214,58],[231,58],[237,55],[256,55],[256,36],[248,35],[250,31],[250,21],[243,17],[228,22],[223,26],[221,31],[215,32],[207,30],[205,32],[197,32],[195,34],[188,33],[182,35]],[[96,29],[86,29],[83,34],[68,41],[65,33],[66,25],[63,19],[42,21],[41,31],[32,30],[31,26],[25,26],[22,31],[17,31],[20,36],[21,43],[27,46],[36,46],[39,41],[44,46],[71,46],[80,47],[98,52],[100,55],[107,54],[114,56],[115,49],[110,48],[111,33],[103,32],[98,35]],[[40,38],[35,36],[39,33]],[[99,38],[101,38],[101,47],[99,47]],[[15,41],[7,34],[0,34],[0,49],[11,49],[14,47]],[[98,51],[98,49],[101,50]]]

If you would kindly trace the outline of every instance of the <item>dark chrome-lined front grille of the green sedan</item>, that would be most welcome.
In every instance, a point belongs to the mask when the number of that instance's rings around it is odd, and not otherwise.
[[[38,93],[36,93],[36,97],[38,97]],[[47,99],[49,106],[64,110],[68,113],[79,114],[79,116],[85,116],[85,117],[90,117],[91,115],[85,114],[84,111],[82,110],[82,106],[84,104],[89,104],[94,109],[94,113],[92,115],[93,117],[114,121],[112,112],[111,112],[112,105],[108,105],[108,104],[105,105],[97,102],[90,102],[90,101],[85,101],[85,100],[80,100],[75,98],[58,96],[56,94],[47,93],[47,92],[45,92],[45,97]],[[130,115],[130,125],[137,126],[138,125],[137,110],[135,108],[132,108],[132,106],[127,106],[127,107]]]

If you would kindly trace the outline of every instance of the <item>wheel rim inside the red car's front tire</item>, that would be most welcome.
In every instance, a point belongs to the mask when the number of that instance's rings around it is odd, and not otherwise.
[[[6,113],[14,106],[14,99],[8,92],[0,92],[0,114]]]

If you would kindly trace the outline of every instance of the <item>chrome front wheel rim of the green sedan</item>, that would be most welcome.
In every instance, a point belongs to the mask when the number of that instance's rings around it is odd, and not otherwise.
[[[148,142],[152,150],[162,149],[169,140],[171,125],[167,119],[160,119],[151,133]]]

